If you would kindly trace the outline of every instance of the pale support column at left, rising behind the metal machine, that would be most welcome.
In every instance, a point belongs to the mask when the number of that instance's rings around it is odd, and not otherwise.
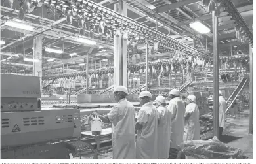
[[[42,36],[35,37],[33,41],[33,59],[39,59],[39,62],[33,62],[33,76],[40,78],[40,91],[42,92]]]

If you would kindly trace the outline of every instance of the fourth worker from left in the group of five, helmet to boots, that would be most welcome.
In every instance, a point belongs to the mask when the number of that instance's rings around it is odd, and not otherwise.
[[[169,159],[176,159],[178,154],[177,146],[183,142],[184,135],[184,114],[185,105],[180,99],[181,92],[173,89],[169,93],[171,101],[168,105],[168,110],[171,112],[171,143]]]

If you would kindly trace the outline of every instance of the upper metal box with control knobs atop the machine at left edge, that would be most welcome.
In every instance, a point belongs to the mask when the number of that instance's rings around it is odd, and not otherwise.
[[[40,79],[1,74],[1,112],[41,110]]]

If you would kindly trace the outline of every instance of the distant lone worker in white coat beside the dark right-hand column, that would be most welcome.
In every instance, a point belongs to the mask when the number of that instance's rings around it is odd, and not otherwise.
[[[223,134],[223,127],[226,119],[226,100],[223,97],[223,93],[219,91],[219,138]]]

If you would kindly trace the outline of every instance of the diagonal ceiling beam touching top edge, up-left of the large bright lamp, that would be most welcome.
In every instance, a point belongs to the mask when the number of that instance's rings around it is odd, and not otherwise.
[[[156,10],[158,11],[158,13],[166,12],[168,10],[174,10],[175,8],[183,7],[185,5],[190,5],[192,3],[197,3],[199,1],[200,0],[183,0],[183,1],[179,1],[177,3],[171,3],[170,5],[165,5],[163,7],[159,7]]]

